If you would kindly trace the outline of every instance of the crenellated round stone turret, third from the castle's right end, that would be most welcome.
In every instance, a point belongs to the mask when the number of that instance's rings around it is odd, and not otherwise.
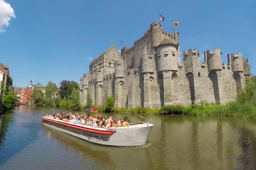
[[[207,67],[208,70],[222,70],[222,61],[221,61],[220,49],[214,49],[213,51],[206,51],[206,58],[207,58]]]

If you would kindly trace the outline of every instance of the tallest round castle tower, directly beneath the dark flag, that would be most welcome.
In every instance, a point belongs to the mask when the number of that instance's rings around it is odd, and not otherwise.
[[[152,24],[150,24],[150,31],[151,31],[152,48],[155,48],[162,41],[161,40],[161,32],[162,32],[161,23],[157,21],[157,23],[153,22]]]

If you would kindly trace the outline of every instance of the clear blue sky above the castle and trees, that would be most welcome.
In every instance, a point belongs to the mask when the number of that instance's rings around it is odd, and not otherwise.
[[[9,66],[17,86],[28,86],[29,80],[43,85],[50,80],[57,85],[64,79],[79,82],[96,56],[112,44],[121,49],[121,40],[132,46],[150,23],[159,21],[159,13],[165,17],[163,30],[171,34],[172,22],[179,22],[175,29],[181,52],[220,48],[222,63],[227,63],[228,53],[240,52],[256,74],[254,0],[0,2],[9,3],[15,15],[7,11],[9,26],[1,25],[5,15],[0,11],[0,62]]]

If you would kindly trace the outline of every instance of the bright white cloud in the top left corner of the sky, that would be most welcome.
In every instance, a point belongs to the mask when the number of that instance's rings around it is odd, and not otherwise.
[[[11,5],[4,0],[0,0],[0,33],[5,32],[4,27],[10,25],[11,17],[16,18]]]

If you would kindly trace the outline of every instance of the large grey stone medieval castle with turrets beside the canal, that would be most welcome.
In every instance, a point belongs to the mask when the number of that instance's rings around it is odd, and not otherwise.
[[[248,59],[241,53],[228,54],[222,63],[220,49],[204,51],[200,62],[197,49],[183,51],[180,61],[179,32],[162,30],[160,22],[121,55],[112,45],[90,64],[90,73],[80,78],[80,103],[90,93],[93,104],[102,106],[115,97],[115,107],[160,107],[169,104],[225,104],[235,100],[251,74]]]

